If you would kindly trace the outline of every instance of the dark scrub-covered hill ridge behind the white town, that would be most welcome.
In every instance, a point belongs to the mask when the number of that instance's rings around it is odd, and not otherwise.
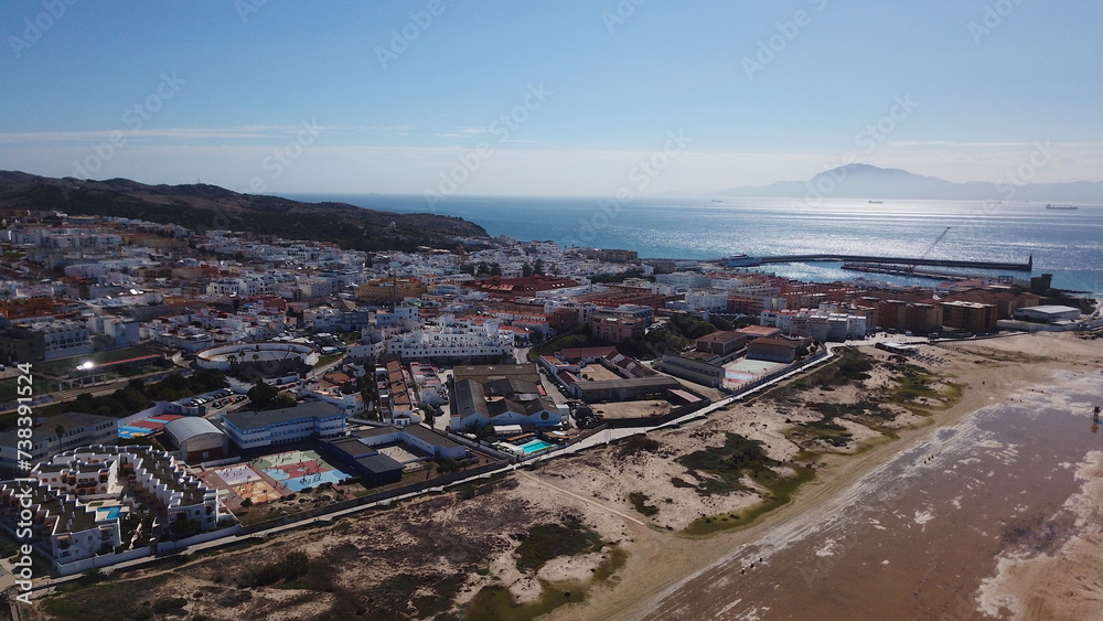
[[[81,181],[0,171],[0,211],[56,211],[333,242],[360,250],[454,247],[456,237],[489,237],[454,216],[399,214],[345,203],[303,203],[240,194],[217,185],[146,185],[127,179]]]

